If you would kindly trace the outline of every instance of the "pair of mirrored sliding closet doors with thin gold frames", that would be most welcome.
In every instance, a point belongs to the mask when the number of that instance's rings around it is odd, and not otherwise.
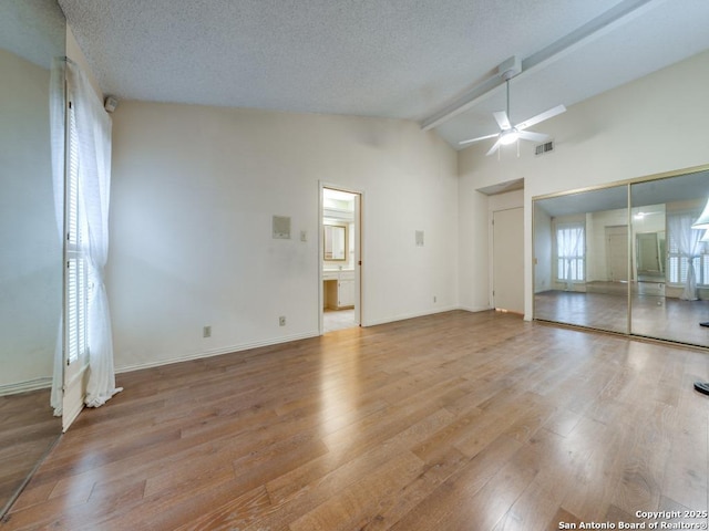
[[[535,198],[535,319],[709,346],[708,200],[709,170]]]

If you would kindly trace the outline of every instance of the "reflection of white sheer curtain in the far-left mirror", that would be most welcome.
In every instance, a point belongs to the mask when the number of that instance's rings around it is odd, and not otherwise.
[[[56,236],[60,244],[64,244],[64,76],[66,58],[52,61],[49,88],[50,133],[52,148],[52,183],[54,189],[54,215],[56,216]],[[54,416],[61,417],[63,409],[64,384],[64,320],[59,308],[59,330],[54,347],[54,369],[52,374],[52,393],[50,404]]]

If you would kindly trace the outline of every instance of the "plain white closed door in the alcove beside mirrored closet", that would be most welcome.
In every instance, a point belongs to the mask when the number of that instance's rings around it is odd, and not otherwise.
[[[524,313],[524,209],[492,212],[493,306]]]

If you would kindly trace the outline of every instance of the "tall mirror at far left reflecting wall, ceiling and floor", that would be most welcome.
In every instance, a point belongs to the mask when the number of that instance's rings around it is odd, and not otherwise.
[[[0,513],[61,433],[50,407],[62,244],[49,100],[52,60],[64,54],[54,0],[0,2]]]

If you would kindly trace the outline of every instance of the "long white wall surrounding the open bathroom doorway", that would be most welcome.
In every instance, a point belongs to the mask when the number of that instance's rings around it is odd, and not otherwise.
[[[458,157],[415,123],[138,102],[113,122],[119,371],[317,335],[319,181],[363,191],[364,325],[458,306]]]

